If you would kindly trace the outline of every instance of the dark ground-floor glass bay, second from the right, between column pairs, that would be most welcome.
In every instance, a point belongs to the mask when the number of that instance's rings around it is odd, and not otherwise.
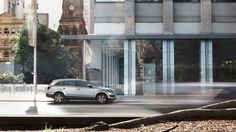
[[[175,40],[175,82],[200,81],[200,41]]]

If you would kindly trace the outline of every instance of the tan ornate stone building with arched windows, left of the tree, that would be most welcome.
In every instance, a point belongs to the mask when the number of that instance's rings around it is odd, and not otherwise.
[[[23,23],[23,19],[17,19],[10,13],[0,15],[0,73],[7,70],[14,73],[14,64],[10,61],[12,57],[10,38],[19,32]]]

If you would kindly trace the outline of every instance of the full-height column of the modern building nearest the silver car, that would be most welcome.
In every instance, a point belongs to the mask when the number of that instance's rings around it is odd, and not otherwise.
[[[135,35],[135,1],[125,0],[125,34]],[[135,41],[124,42],[124,94],[136,94],[136,63],[135,63]]]

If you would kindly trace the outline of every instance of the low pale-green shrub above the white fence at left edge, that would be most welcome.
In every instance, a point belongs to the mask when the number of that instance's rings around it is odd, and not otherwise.
[[[0,75],[0,83],[23,83],[24,74],[14,75],[10,71],[6,71]]]

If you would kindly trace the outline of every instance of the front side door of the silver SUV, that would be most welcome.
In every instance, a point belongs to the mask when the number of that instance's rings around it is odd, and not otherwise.
[[[89,82],[87,81],[78,81],[77,85],[78,85],[78,96],[80,98],[84,98],[84,99],[91,99],[94,98],[94,88],[93,87],[88,87],[87,84],[89,84]]]

